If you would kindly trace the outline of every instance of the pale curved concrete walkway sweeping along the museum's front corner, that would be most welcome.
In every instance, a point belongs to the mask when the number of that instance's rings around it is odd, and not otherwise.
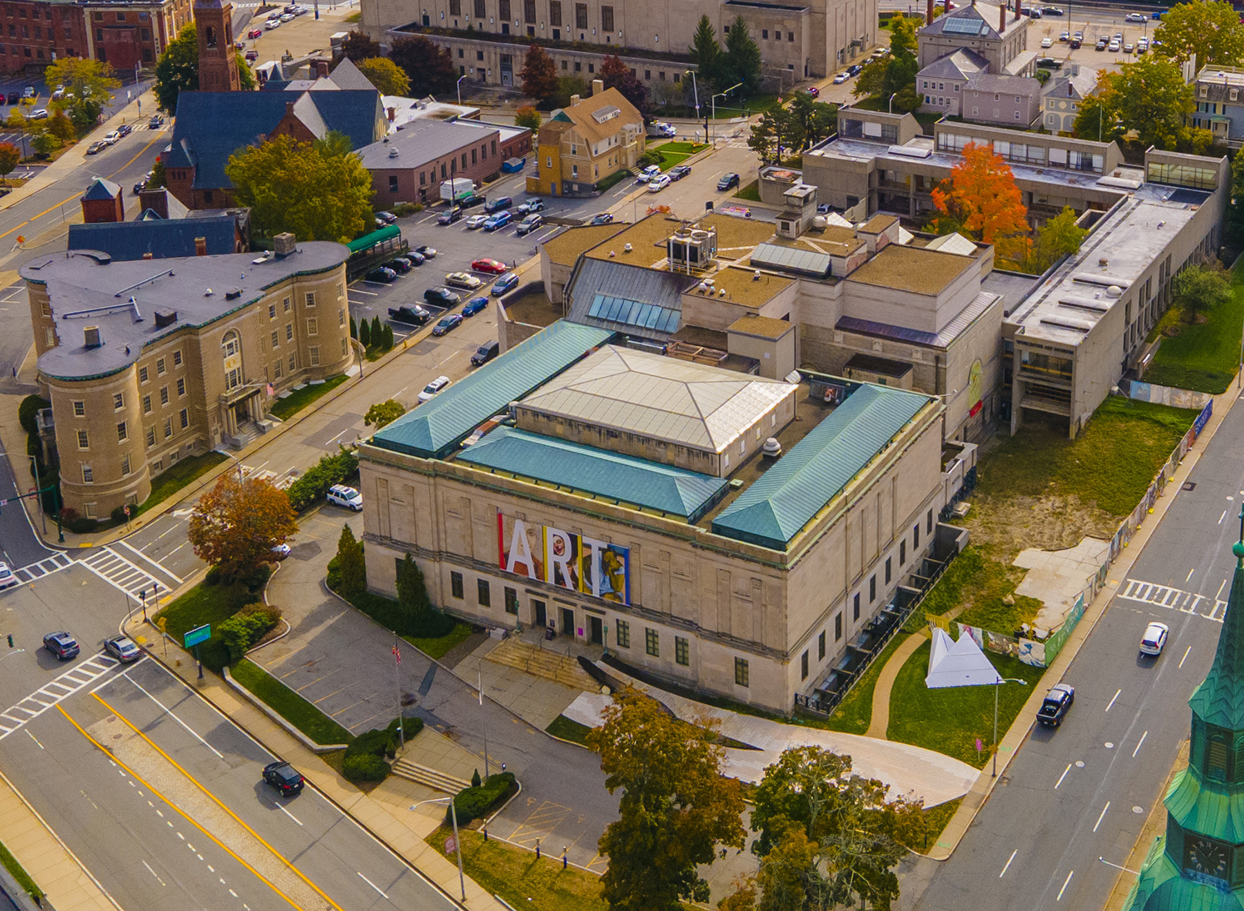
[[[972,766],[932,749],[816,727],[782,725],[754,715],[714,708],[642,684],[615,667],[602,670],[647,692],[679,718],[693,722],[705,717],[715,718],[720,722],[723,735],[756,747],[725,751],[726,774],[744,782],[759,782],[765,767],[776,762],[784,749],[797,746],[819,746],[835,753],[845,753],[851,757],[851,767],[856,773],[884,782],[893,797],[923,798],[926,807],[963,797],[977,781],[978,772]],[[597,727],[610,701],[611,697],[602,694],[583,694],[565,715],[581,725]]]

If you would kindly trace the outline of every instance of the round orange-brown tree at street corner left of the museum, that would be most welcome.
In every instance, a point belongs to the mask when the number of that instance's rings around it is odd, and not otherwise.
[[[226,471],[190,515],[194,553],[226,579],[248,575],[272,558],[272,548],[299,529],[285,491],[259,477]]]

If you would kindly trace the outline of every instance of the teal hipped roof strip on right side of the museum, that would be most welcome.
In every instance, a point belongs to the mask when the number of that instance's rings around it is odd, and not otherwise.
[[[713,533],[785,551],[929,400],[860,387],[726,506],[713,520]]]

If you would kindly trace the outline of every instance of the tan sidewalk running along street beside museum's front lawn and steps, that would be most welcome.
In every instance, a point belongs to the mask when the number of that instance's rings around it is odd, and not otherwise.
[[[153,633],[153,628],[138,618],[126,625],[126,633],[141,644]],[[156,652],[148,652],[148,656],[162,664],[170,674],[179,676],[187,686],[211,702],[235,725],[262,743],[266,749],[294,763],[325,797],[348,813],[394,854],[403,858],[424,879],[452,897],[455,904],[460,904],[470,911],[505,911],[505,907],[496,899],[470,879],[466,880],[466,901],[465,904],[459,902],[462,892],[458,885],[458,866],[445,860],[423,840],[440,825],[444,818],[444,804],[430,804],[414,812],[409,808],[419,800],[444,797],[443,793],[403,778],[389,777],[374,790],[364,794],[302,746],[300,741],[286,733],[264,712],[233,692],[214,674],[197,680],[193,661],[183,661],[180,667],[174,667],[164,664]],[[422,752],[422,749],[414,751],[413,747],[425,733],[419,733],[412,742],[409,747],[412,753]],[[437,744],[432,744],[432,752],[435,752],[435,747]],[[58,906],[57,911],[66,910]]]

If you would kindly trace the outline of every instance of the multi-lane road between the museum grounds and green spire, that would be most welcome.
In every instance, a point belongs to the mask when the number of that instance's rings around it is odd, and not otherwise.
[[[1242,437],[1244,408],[1234,408],[1189,475],[1194,487],[1168,493],[1174,502],[1067,669],[1067,720],[1031,733],[948,861],[917,865],[908,880],[917,891],[929,884],[904,907],[1105,905],[1111,864],[1126,863],[1161,798],[1188,737],[1184,700],[1213,661],[1244,501]],[[1137,650],[1149,620],[1171,626],[1158,659]]]

